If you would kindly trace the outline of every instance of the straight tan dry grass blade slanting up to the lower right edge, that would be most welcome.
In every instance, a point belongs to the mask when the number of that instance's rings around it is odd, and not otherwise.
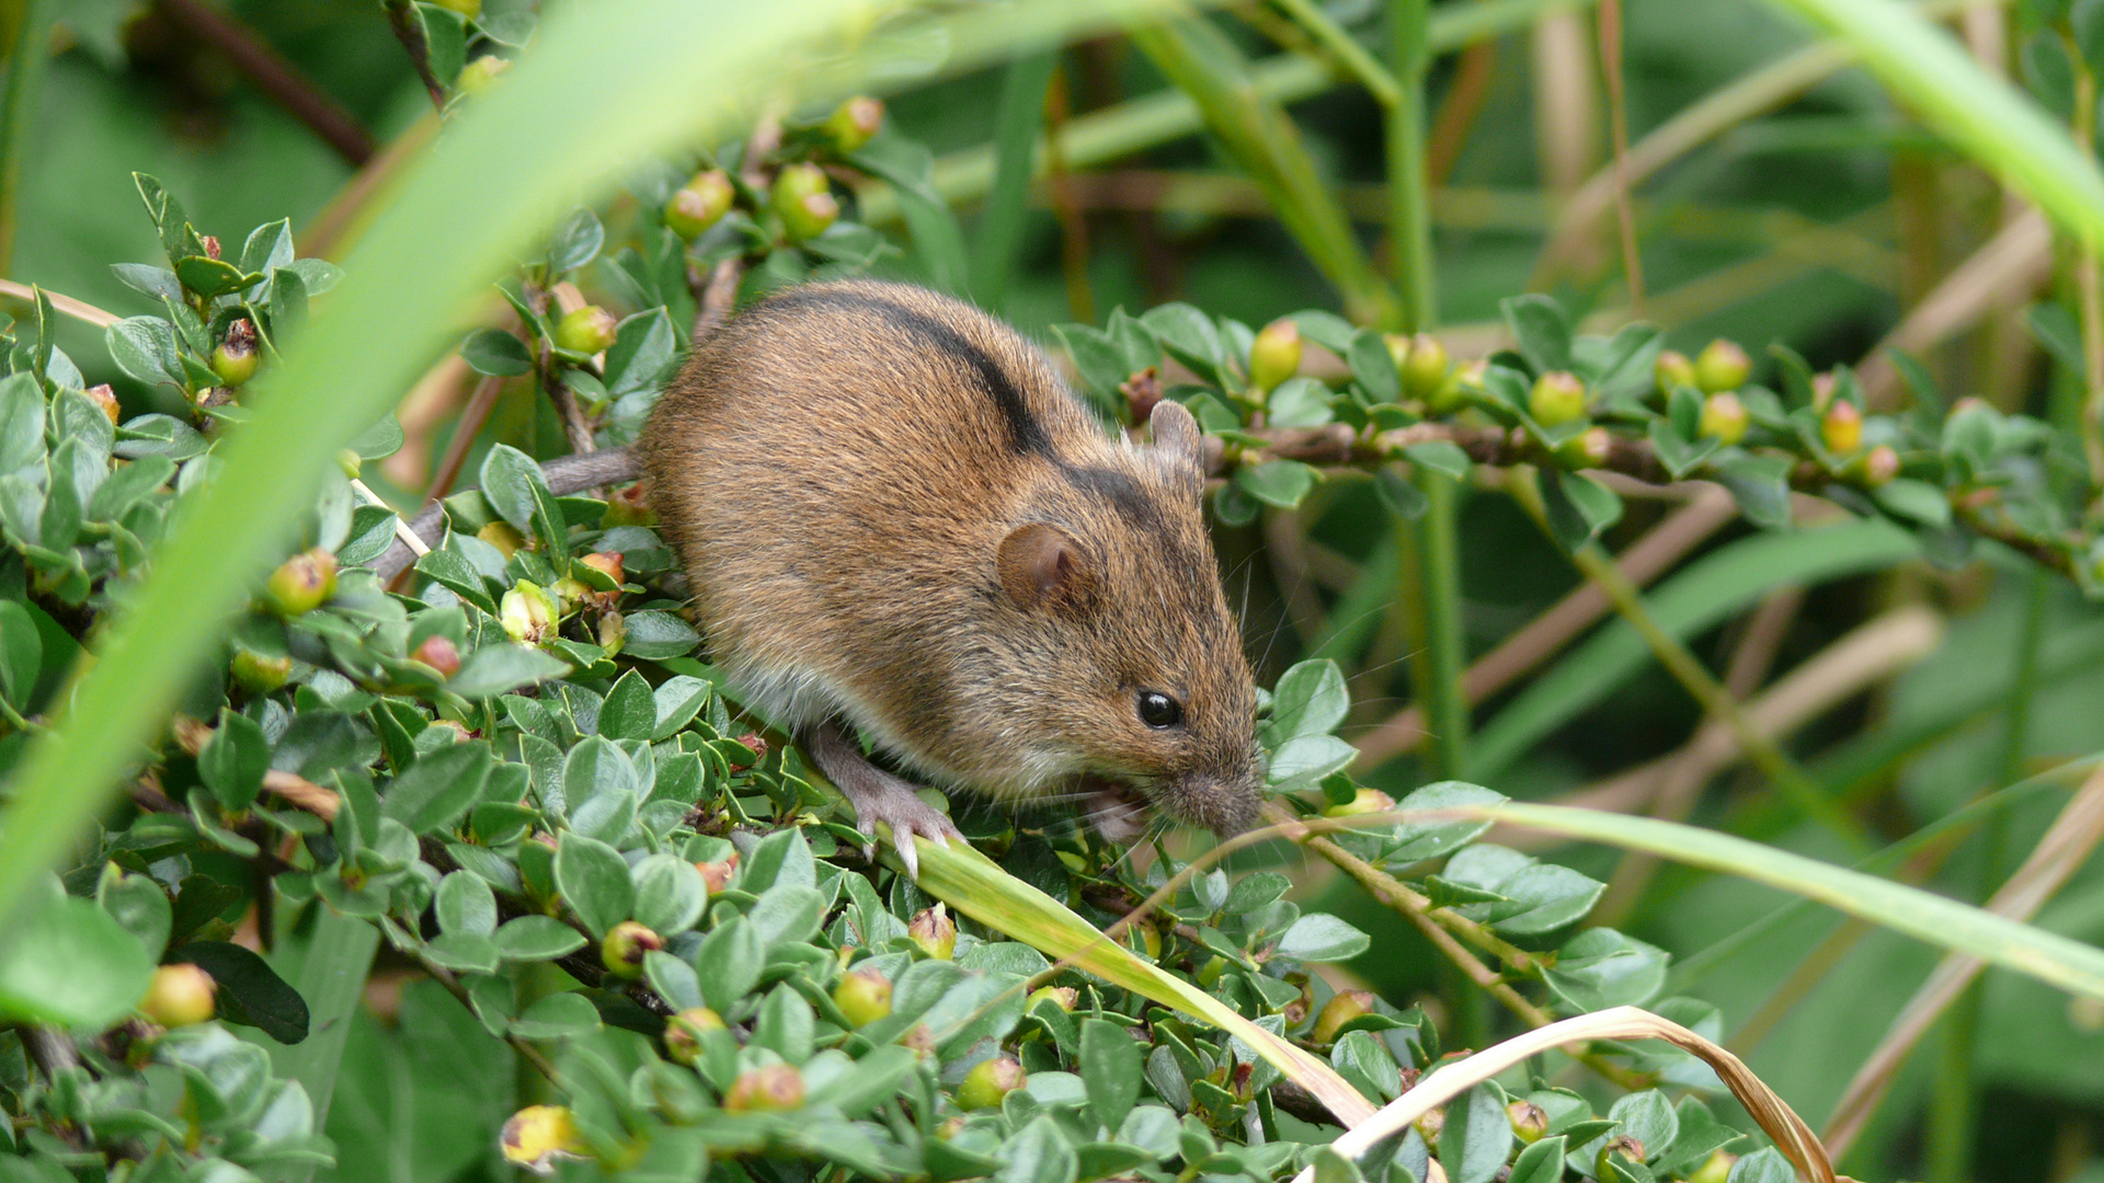
[[[2068,876],[2081,869],[2100,840],[2104,840],[2104,770],[2093,773],[2068,800],[2045,838],[2009,876],[2009,882],[1995,893],[1986,909],[2011,920],[2028,920],[2068,882]],[[1921,983],[1915,998],[1891,1021],[1885,1038],[1856,1069],[1856,1078],[1847,1082],[1847,1090],[1835,1103],[1835,1111],[1826,1120],[1826,1141],[1835,1145],[1837,1154],[1847,1151],[1856,1141],[1864,1122],[1877,1111],[1877,1103],[1883,1101],[1894,1074],[1906,1063],[1906,1055],[1942,1017],[1944,1008],[1980,977],[1982,968],[1986,962],[1965,954],[1950,954],[1936,964],[1929,981]]]

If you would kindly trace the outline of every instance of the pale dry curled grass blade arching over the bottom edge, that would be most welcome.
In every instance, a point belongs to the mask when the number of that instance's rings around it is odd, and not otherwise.
[[[1395,1101],[1382,1105],[1372,1118],[1355,1124],[1349,1132],[1344,1132],[1344,1137],[1336,1139],[1336,1151],[1344,1158],[1361,1158],[1376,1143],[1410,1128],[1412,1122],[1431,1109],[1445,1105],[1528,1057],[1589,1040],[1664,1040],[1700,1057],[1717,1069],[1717,1078],[1723,1080],[1725,1088],[1729,1088],[1734,1097],[1738,1097],[1738,1103],[1746,1107],[1746,1114],[1761,1126],[1761,1130],[1774,1139],[1776,1149],[1797,1164],[1801,1177],[1812,1179],[1814,1183],[1852,1183],[1835,1175],[1833,1160],[1828,1160],[1826,1147],[1820,1145],[1812,1126],[1807,1126],[1805,1120],[1782,1101],[1782,1097],[1776,1097],[1776,1090],[1763,1084],[1753,1069],[1740,1063],[1736,1055],[1704,1040],[1687,1027],[1673,1023],[1671,1019],[1660,1019],[1658,1015],[1637,1010],[1635,1006],[1614,1006],[1610,1010],[1563,1019],[1561,1023],[1551,1023],[1523,1036],[1513,1036],[1511,1040],[1483,1048],[1464,1061],[1450,1063],[1427,1076],[1410,1092],[1403,1092]],[[1294,1183],[1313,1183],[1313,1179],[1315,1168],[1307,1168],[1294,1177]]]

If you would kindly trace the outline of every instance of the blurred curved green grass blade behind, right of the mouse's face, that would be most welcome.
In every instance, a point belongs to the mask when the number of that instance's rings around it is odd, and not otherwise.
[[[1915,554],[1913,535],[1881,520],[1755,535],[1690,564],[1645,596],[1645,604],[1660,627],[1685,640],[1784,583],[1820,583]],[[1626,621],[1574,648],[1477,733],[1471,777],[1494,781],[1528,747],[1612,695],[1650,659],[1650,646]]]

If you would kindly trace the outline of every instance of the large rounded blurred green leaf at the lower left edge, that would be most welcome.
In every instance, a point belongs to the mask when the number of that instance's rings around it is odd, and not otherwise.
[[[154,958],[114,916],[86,899],[32,905],[0,930],[0,1015],[23,1023],[101,1031],[130,1012],[154,977]]]

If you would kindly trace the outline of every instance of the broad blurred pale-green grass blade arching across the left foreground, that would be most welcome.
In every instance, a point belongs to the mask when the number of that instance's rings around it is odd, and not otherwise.
[[[282,554],[322,467],[452,345],[454,316],[486,299],[488,284],[562,210],[612,189],[638,156],[732,135],[751,103],[781,93],[783,78],[806,97],[850,88],[856,61],[804,63],[797,51],[854,11],[852,0],[623,0],[549,17],[534,53],[402,177],[393,202],[343,259],[343,282],[288,343],[282,366],[250,387],[255,417],[221,444],[219,474],[183,507],[57,735],[25,756],[0,813],[0,922],[101,813],[126,768],[149,756],[143,745],[217,648],[246,589]],[[1130,19],[1134,4],[974,11],[947,21],[949,61],[970,65],[1113,15]],[[785,72],[785,63],[800,67]],[[581,78],[591,80],[587,91]],[[696,78],[709,86],[696,88]]]

